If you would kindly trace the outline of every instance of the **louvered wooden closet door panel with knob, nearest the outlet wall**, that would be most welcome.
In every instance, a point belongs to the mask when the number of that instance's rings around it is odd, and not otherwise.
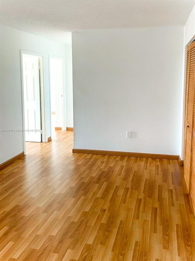
[[[191,181],[191,152],[192,152],[192,127],[194,110],[194,70],[195,70],[195,42],[187,50],[186,70],[186,108],[185,108],[185,154],[184,178],[190,192]]]

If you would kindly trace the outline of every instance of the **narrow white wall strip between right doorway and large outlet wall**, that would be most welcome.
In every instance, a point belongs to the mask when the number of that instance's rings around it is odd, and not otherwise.
[[[73,66],[72,43],[65,44],[66,62],[66,124],[73,127]]]

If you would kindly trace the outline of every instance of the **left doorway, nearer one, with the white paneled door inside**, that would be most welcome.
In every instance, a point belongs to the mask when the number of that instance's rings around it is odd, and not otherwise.
[[[45,142],[43,56],[21,50],[23,149],[27,142]],[[42,120],[43,119],[43,120]]]

